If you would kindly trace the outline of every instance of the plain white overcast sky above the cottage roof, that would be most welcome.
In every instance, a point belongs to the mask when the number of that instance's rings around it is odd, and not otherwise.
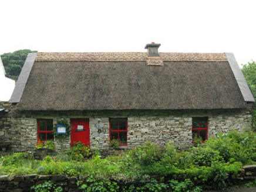
[[[0,54],[38,52],[234,53],[256,61],[255,0],[0,2]]]

